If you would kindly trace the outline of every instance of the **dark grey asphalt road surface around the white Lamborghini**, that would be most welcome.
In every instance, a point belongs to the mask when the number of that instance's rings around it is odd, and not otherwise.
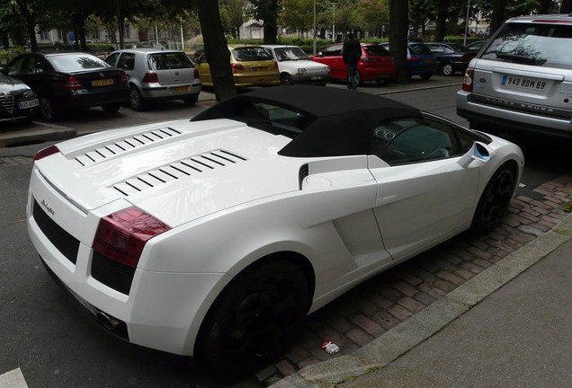
[[[451,79],[454,80],[460,82],[460,77]],[[451,86],[387,96],[466,124],[455,114],[454,95],[458,89],[459,86]],[[365,86],[362,91],[391,92],[390,88],[377,85]],[[192,117],[205,106],[201,103],[189,108],[172,101],[146,112],[123,108],[113,116],[92,109],[70,115],[58,127],[86,133]],[[525,186],[519,190],[530,191],[541,182],[570,171],[570,142],[542,137],[517,137],[515,141],[523,146],[527,158]],[[31,388],[228,386],[215,376],[204,374],[187,357],[112,338],[85,320],[49,278],[26,232],[24,206],[31,163],[22,157],[46,145],[0,149],[0,375],[21,368]],[[252,383],[244,386],[249,385]]]

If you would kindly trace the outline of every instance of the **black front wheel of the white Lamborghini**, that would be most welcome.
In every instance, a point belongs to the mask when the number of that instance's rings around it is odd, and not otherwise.
[[[516,172],[510,164],[503,164],[488,181],[478,200],[472,226],[480,231],[490,231],[501,220],[513,198]]]

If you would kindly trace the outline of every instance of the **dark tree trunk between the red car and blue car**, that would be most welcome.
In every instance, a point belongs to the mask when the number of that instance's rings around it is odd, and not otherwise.
[[[399,84],[409,82],[407,72],[407,31],[409,4],[403,0],[389,0],[389,49],[395,61]]]

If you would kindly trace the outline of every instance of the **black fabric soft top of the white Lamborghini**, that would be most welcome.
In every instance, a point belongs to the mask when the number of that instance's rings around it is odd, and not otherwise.
[[[369,93],[320,86],[285,85],[239,94],[204,110],[192,121],[259,120],[250,109],[253,102],[293,110],[311,120],[308,127],[279,154],[298,157],[371,153],[374,128],[388,119],[418,118],[421,112],[407,104]]]

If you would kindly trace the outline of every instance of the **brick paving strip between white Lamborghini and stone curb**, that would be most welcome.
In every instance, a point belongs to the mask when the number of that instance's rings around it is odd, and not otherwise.
[[[543,183],[534,191],[541,200],[517,196],[494,231],[474,234],[469,230],[455,236],[371,278],[311,314],[299,340],[274,367],[264,369],[256,377],[266,379],[263,383],[268,384],[276,377],[292,375],[304,366],[336,357],[320,348],[325,339],[341,348],[338,355],[352,354],[549,231],[567,215],[564,204],[572,201],[568,197],[572,175]]]

